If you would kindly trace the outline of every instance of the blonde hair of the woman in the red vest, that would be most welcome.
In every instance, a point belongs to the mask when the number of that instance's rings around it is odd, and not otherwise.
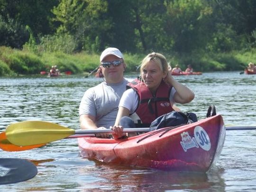
[[[156,65],[160,67],[160,70],[163,73],[168,74],[168,63],[164,55],[160,53],[149,53],[141,62],[140,65],[140,74],[143,73],[143,69],[146,67],[146,65],[149,63],[149,61],[154,61]]]

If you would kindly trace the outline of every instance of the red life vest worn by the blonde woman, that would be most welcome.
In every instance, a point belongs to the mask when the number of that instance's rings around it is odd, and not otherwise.
[[[174,110],[169,100],[172,86],[164,81],[160,83],[155,96],[152,95],[146,84],[139,79],[128,83],[127,86],[135,90],[138,95],[136,114],[130,116],[137,127],[149,126],[157,117]]]

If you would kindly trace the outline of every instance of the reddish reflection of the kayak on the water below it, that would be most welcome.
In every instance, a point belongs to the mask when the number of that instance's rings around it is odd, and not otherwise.
[[[80,169],[81,175],[88,170]],[[168,190],[201,190],[215,189],[225,191],[225,184],[220,176],[221,170],[205,173],[166,172],[138,167],[98,165],[93,176],[100,181],[85,181],[81,187],[86,190],[97,189],[107,191],[168,191]],[[217,185],[216,185],[217,184]],[[99,185],[102,186],[99,188]],[[106,187],[108,186],[108,187]],[[91,188],[92,187],[92,188]]]

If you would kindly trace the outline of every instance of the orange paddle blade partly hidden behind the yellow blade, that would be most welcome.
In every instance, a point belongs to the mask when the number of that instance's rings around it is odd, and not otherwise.
[[[44,145],[46,145],[46,143],[37,144],[37,145],[27,145],[27,146],[14,145],[7,140],[5,132],[0,133],[0,148],[5,151],[31,150]]]

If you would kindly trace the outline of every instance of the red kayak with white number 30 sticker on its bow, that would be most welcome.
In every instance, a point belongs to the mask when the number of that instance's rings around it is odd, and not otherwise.
[[[225,140],[220,115],[176,128],[165,127],[125,139],[78,138],[83,158],[169,171],[206,172]]]

